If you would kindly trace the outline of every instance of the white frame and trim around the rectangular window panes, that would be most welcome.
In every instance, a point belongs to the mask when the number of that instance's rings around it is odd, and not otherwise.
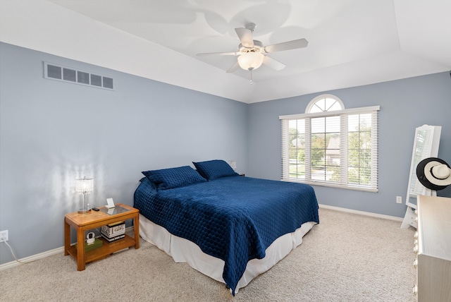
[[[321,96],[319,99],[323,99],[324,96]],[[311,102],[313,103],[313,102]],[[280,121],[282,122],[282,181],[290,181],[290,182],[297,182],[297,183],[307,183],[310,185],[317,185],[317,186],[328,186],[332,188],[345,188],[350,190],[357,190],[357,191],[368,191],[368,192],[378,192],[378,114],[377,111],[381,109],[380,106],[371,106],[371,107],[360,107],[360,108],[352,108],[352,109],[343,109],[343,110],[334,110],[334,111],[323,111],[323,112],[316,112],[316,113],[305,113],[305,114],[290,114],[290,115],[283,115],[279,116]],[[372,113],[372,133],[371,133],[371,185],[364,186],[364,185],[355,185],[350,184],[347,182],[341,182],[341,183],[335,183],[335,182],[329,182],[329,181],[318,181],[318,180],[312,180],[310,175],[310,169],[306,169],[306,179],[296,179],[296,178],[290,178],[290,171],[288,164],[285,163],[287,159],[289,159],[289,148],[288,144],[286,144],[285,141],[285,135],[288,132],[288,120],[290,119],[311,119],[312,117],[316,116],[338,116],[338,115],[345,115],[348,114],[367,114]],[[341,119],[346,120],[346,119]],[[284,124],[285,123],[285,124]],[[306,123],[306,133],[310,133],[310,123]],[[341,129],[347,129],[347,121],[342,121]],[[345,130],[347,132],[347,130]],[[347,135],[345,135],[347,136]],[[306,135],[306,150],[310,149],[310,139],[309,135]],[[344,156],[347,154],[347,141],[343,140],[340,142],[340,148],[343,150],[342,152],[342,160],[346,162],[345,165],[340,165],[341,171],[347,174],[346,167],[347,167],[347,159],[345,159]],[[305,162],[310,162],[310,158],[308,157],[308,154],[310,152],[306,152],[306,159]],[[287,165],[287,167],[284,167]],[[347,179],[342,174],[342,179]]]

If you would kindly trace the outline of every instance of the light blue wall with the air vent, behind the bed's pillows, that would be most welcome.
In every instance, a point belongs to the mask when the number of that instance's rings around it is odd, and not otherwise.
[[[18,258],[63,246],[76,178],[94,178],[91,206],[132,205],[141,171],[208,159],[247,171],[247,104],[11,44],[0,54],[0,230]],[[43,61],[111,76],[115,90],[44,79]],[[13,260],[4,244],[0,255]]]

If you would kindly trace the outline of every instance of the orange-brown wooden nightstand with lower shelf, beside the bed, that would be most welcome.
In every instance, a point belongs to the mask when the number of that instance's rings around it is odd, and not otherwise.
[[[87,214],[73,212],[64,216],[64,255],[71,255],[77,260],[78,270],[85,270],[87,262],[106,258],[123,248],[130,246],[140,248],[140,211],[121,203],[116,204],[116,211],[111,211],[113,214],[108,214],[107,210],[106,207],[101,207],[98,212],[93,210]],[[80,248],[85,246],[85,231],[127,219],[133,219],[135,238],[125,234],[125,238],[109,243],[100,237],[99,239],[103,241],[101,247],[89,250],[86,253],[85,248]],[[75,248],[75,245],[70,246],[70,227],[77,229],[77,245],[79,248]]]

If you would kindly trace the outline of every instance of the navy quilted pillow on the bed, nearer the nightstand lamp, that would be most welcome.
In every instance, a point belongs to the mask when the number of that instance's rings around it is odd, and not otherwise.
[[[159,190],[178,188],[206,181],[190,166],[144,171],[142,174],[149,181],[152,181]]]

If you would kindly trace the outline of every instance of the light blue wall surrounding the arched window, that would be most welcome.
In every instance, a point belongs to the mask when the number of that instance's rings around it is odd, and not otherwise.
[[[281,87],[283,89],[283,87]],[[314,97],[330,93],[346,108],[380,105],[378,193],[314,186],[319,203],[404,217],[415,128],[442,126],[438,157],[451,164],[451,78],[436,73],[249,105],[249,176],[280,179],[278,116],[304,113]],[[402,196],[403,204],[395,203]],[[451,197],[451,186],[438,195]]]

